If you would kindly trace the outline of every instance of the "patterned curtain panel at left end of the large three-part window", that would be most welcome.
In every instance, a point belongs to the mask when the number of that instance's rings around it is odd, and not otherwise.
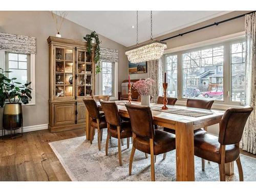
[[[156,103],[159,95],[163,94],[163,57],[147,61],[148,77],[155,81],[150,88],[151,102]]]

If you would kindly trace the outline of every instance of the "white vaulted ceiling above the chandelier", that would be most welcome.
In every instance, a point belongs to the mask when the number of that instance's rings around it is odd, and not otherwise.
[[[136,44],[136,11],[67,11],[67,19],[126,47]],[[153,11],[153,37],[214,18],[227,11]],[[139,11],[139,42],[150,38],[150,11]],[[132,28],[135,26],[135,28]]]

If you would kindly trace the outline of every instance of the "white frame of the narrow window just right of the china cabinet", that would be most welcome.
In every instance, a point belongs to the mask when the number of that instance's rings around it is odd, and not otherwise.
[[[100,61],[100,68],[101,68],[101,72],[99,73],[99,94],[102,95],[102,62],[110,62],[110,61],[104,61],[101,60]],[[118,87],[117,87],[117,78],[118,78],[118,62],[112,62],[112,65],[114,65],[112,67],[112,78],[113,78],[113,93],[110,96],[110,100],[117,100],[118,99]]]

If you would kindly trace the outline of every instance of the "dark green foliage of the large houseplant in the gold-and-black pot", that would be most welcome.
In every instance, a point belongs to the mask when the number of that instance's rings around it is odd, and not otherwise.
[[[31,82],[27,82],[24,85],[15,81],[17,78],[9,79],[5,74],[11,73],[10,71],[4,71],[0,68],[0,106],[3,108],[5,102],[18,103],[22,101],[23,104],[29,103],[31,97],[31,88],[28,86]]]

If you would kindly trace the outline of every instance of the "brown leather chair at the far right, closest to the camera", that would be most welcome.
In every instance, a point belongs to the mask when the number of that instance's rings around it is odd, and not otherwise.
[[[237,162],[239,180],[243,181],[239,142],[252,110],[251,106],[226,110],[220,123],[219,137],[207,133],[195,135],[195,155],[218,163],[221,181],[225,181],[225,163],[233,161]]]

